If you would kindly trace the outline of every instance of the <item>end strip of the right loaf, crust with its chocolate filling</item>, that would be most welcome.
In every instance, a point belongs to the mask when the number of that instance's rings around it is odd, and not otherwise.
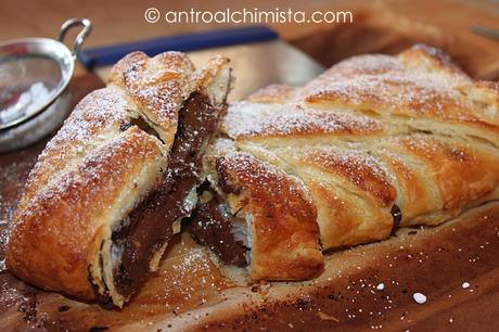
[[[190,225],[193,238],[222,264],[246,267],[253,281],[317,276],[323,255],[316,213],[294,179],[245,153],[218,156],[215,165],[209,199]]]

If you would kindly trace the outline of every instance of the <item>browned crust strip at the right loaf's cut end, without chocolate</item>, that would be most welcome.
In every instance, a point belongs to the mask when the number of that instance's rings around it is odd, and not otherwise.
[[[228,153],[215,163],[230,209],[248,222],[251,278],[299,280],[317,276],[323,256],[316,209],[300,186],[247,153]]]

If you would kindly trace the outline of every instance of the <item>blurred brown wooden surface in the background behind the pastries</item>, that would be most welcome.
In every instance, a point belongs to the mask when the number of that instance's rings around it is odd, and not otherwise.
[[[294,11],[351,11],[353,24],[269,24],[281,38],[295,43],[324,65],[364,52],[398,52],[407,43],[420,41],[444,48],[462,59],[472,75],[499,75],[499,42],[469,31],[479,23],[499,29],[497,0],[289,0],[289,1],[105,1],[43,0],[0,1],[0,40],[22,37],[55,37],[62,22],[88,17],[94,29],[84,47],[105,46],[175,34],[227,28],[233,24],[146,23],[148,8],[166,11],[216,12],[276,8]],[[353,31],[354,30],[354,31]],[[346,31],[346,33],[345,33]],[[355,33],[357,31],[357,34]],[[374,34],[373,34],[374,31]],[[380,36],[380,33],[383,36]],[[387,34],[388,31],[388,34]],[[360,35],[360,37],[358,36]],[[394,36],[395,35],[395,36]],[[74,35],[68,36],[68,39]],[[407,39],[407,43],[395,42]],[[398,48],[393,44],[397,43]],[[469,64],[471,63],[471,65]],[[77,75],[85,75],[81,67]],[[496,77],[494,74],[492,77]]]

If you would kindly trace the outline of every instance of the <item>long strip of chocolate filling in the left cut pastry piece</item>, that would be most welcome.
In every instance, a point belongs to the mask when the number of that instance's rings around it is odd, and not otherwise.
[[[116,257],[113,276],[123,296],[133,294],[145,281],[153,255],[171,238],[176,220],[188,216],[191,190],[203,181],[201,150],[215,131],[222,108],[208,97],[194,92],[179,111],[178,129],[161,183],[129,215],[128,222],[113,232]]]

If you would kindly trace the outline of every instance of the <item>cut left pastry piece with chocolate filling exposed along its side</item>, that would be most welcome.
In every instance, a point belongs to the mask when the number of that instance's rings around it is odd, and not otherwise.
[[[47,144],[14,217],[9,270],[123,306],[196,202],[201,155],[225,112],[228,60],[127,55]]]

